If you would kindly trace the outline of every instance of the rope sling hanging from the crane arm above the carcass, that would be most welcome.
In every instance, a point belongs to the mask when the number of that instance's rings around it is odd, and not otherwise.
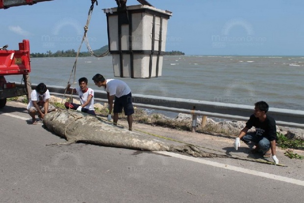
[[[87,38],[87,32],[88,32],[88,29],[89,29],[89,24],[90,24],[91,16],[92,16],[92,12],[93,12],[93,9],[94,9],[94,3],[96,2],[96,5],[98,5],[98,1],[97,0],[91,0],[91,2],[92,2],[92,4],[91,4],[91,6],[89,8],[88,19],[87,19],[86,25],[83,27],[84,28],[84,34],[83,34],[80,46],[78,48],[78,51],[76,53],[76,59],[75,59],[75,62],[74,62],[74,66],[72,68],[71,75],[69,77],[68,85],[71,84],[70,81],[71,81],[73,73],[74,73],[73,84],[75,84],[77,59],[78,59],[78,56],[79,56],[79,53],[80,53],[80,49],[81,49],[81,46],[82,46],[83,42],[86,43],[87,49],[91,53],[91,55],[94,55],[95,57],[103,57],[103,56],[106,56],[109,53],[109,50],[107,50],[107,51],[105,51],[104,53],[102,53],[101,55],[98,56],[98,55],[96,55],[92,51],[92,49],[91,49],[91,47],[89,45],[89,40]],[[67,89],[64,91],[61,104],[63,102],[63,98],[65,98],[66,92],[67,92]],[[73,99],[73,91],[71,92],[70,102],[72,102],[72,99]]]

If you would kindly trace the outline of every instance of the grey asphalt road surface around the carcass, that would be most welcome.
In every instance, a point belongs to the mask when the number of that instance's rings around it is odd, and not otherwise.
[[[0,203],[303,202],[303,161],[290,161],[280,151],[288,167],[82,143],[49,145],[65,140],[30,120],[24,104],[9,101],[0,109]],[[197,142],[187,135],[185,140]],[[205,135],[209,139],[212,148],[232,143]]]

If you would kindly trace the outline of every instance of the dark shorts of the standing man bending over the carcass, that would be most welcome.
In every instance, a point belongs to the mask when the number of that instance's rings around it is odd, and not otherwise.
[[[126,116],[132,115],[134,113],[131,93],[120,98],[115,97],[113,113],[122,113],[123,108]]]

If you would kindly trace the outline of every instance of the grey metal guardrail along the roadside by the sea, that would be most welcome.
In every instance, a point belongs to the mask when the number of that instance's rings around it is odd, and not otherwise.
[[[32,84],[32,88],[35,88],[35,86],[35,84]],[[48,85],[48,89],[52,95],[58,96],[62,96],[65,91],[65,87],[61,86]],[[94,92],[95,101],[107,102],[107,95],[105,91],[94,90]],[[203,121],[206,120],[206,116],[237,121],[247,121],[249,116],[253,114],[254,109],[254,106],[250,105],[157,97],[139,94],[132,94],[132,101],[134,106],[141,108],[191,114],[193,115],[193,130],[195,130],[197,126],[196,120],[198,115],[203,116]],[[304,128],[304,111],[269,108],[267,114],[276,120],[278,126]]]

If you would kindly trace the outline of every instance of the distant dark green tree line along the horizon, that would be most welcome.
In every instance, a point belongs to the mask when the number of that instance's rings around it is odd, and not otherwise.
[[[97,55],[104,53],[105,51],[107,51],[109,49],[109,47],[103,46],[98,50],[94,50],[93,52]],[[181,51],[165,51],[164,53],[165,55],[185,55],[184,52]],[[38,57],[76,57],[77,52],[72,49],[72,50],[67,50],[67,51],[63,51],[63,50],[58,50],[56,52],[51,52],[51,51],[47,51],[46,53],[31,53],[30,57],[31,58],[38,58]],[[85,56],[91,56],[91,54],[88,51],[82,51],[79,52],[80,57],[85,57]]]

